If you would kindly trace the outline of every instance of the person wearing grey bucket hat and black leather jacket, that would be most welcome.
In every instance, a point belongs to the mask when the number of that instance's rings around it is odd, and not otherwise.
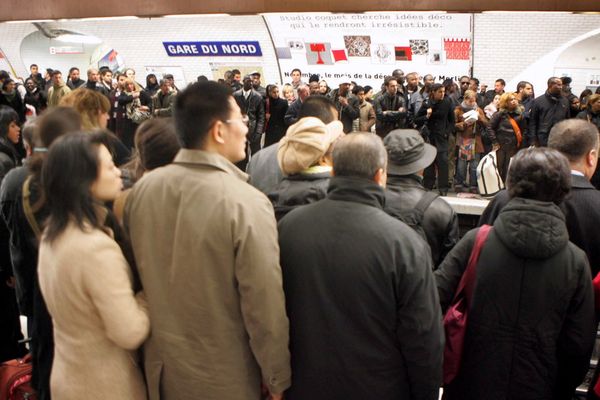
[[[446,201],[423,187],[423,170],[437,150],[414,129],[397,129],[383,139],[388,153],[385,212],[424,235],[434,266],[459,240],[458,216]]]

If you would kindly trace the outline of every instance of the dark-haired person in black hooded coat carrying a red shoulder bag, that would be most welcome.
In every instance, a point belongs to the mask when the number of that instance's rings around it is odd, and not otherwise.
[[[448,400],[570,400],[583,380],[596,336],[594,295],[587,257],[569,242],[557,206],[570,182],[568,161],[554,149],[513,158],[511,200],[480,253],[460,370],[444,387]],[[476,233],[435,271],[444,311]]]

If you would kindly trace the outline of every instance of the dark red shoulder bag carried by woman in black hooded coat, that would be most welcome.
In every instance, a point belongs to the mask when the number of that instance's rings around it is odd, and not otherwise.
[[[444,331],[446,345],[444,347],[444,385],[451,383],[458,375],[462,361],[465,333],[467,331],[467,316],[469,302],[473,298],[475,286],[475,269],[479,260],[479,253],[492,227],[483,225],[477,231],[475,244],[471,250],[469,263],[458,284],[458,289],[444,316]]]

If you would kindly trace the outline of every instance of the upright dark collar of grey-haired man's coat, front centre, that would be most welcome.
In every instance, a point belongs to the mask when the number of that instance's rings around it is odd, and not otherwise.
[[[383,209],[385,192],[372,180],[348,176],[334,176],[329,181],[327,197],[331,200],[350,201]]]

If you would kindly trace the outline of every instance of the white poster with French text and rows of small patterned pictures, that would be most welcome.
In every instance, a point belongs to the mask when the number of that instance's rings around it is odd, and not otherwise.
[[[381,12],[266,14],[283,81],[292,69],[307,82],[319,74],[330,87],[352,80],[378,88],[383,77],[432,74],[436,82],[468,75],[471,14]]]

